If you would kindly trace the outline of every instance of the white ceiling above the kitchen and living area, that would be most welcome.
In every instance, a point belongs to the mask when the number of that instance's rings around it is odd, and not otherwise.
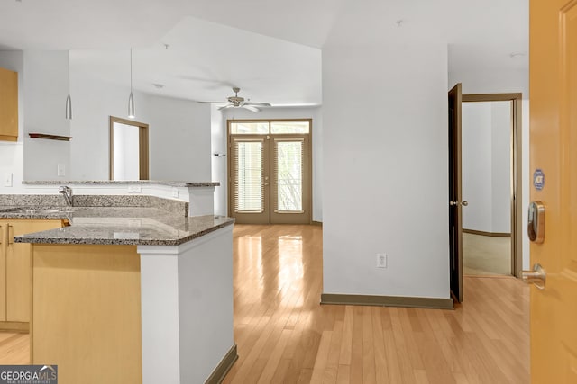
[[[125,84],[133,47],[135,89],[197,101],[320,104],[324,47],[416,41],[450,71],[527,70],[528,0],[0,2],[0,49],[71,49],[73,74]]]

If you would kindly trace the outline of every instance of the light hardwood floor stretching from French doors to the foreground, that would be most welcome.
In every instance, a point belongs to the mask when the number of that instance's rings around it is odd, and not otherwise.
[[[528,383],[529,288],[465,277],[455,310],[329,306],[322,228],[234,228],[234,340],[224,383]]]

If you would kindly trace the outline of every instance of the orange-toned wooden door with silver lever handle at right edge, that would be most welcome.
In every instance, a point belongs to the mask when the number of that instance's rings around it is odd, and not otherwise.
[[[577,383],[577,1],[530,2],[531,201],[545,204],[545,241],[531,263],[546,272],[531,288],[531,378]],[[540,174],[540,173],[537,173]]]

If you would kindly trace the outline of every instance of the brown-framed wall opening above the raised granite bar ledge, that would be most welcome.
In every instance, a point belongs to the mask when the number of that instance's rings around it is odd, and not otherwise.
[[[110,116],[110,180],[148,180],[148,124]]]

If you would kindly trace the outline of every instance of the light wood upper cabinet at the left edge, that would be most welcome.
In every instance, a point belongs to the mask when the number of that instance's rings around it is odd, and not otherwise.
[[[0,140],[18,139],[18,73],[0,68]]]

